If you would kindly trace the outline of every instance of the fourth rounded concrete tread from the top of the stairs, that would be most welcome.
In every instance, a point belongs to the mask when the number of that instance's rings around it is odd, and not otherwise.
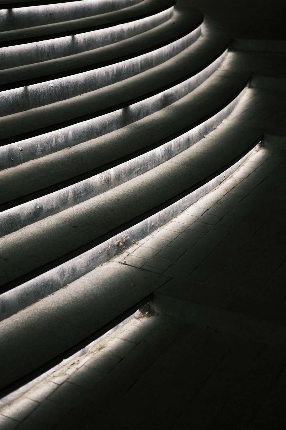
[[[70,185],[62,182],[67,176],[70,177],[71,165],[74,166],[72,175],[87,172],[84,177],[86,178],[144,154],[150,151],[151,147],[158,147],[171,141],[172,138],[192,129],[220,111],[242,89],[246,80],[247,74],[233,77],[227,71],[216,71],[193,92],[123,129],[15,168],[3,170],[0,172],[2,210],[7,208],[3,205],[6,202],[10,201],[9,207],[11,207],[13,204],[17,205],[24,200],[33,199],[35,196],[32,193],[47,185],[59,183],[52,189],[53,191]],[[90,173],[88,173],[88,167],[91,169]],[[72,183],[84,178],[75,176]],[[21,187],[18,186],[20,182]],[[44,194],[44,191],[45,189],[41,194]],[[27,198],[24,199],[26,195]],[[23,197],[24,200],[15,200],[19,197]]]

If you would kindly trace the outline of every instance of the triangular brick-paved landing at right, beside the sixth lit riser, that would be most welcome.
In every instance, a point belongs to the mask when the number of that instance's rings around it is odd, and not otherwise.
[[[282,273],[286,258],[284,154],[260,150],[217,190],[117,260],[175,279],[283,301],[286,287],[273,276],[281,265]]]

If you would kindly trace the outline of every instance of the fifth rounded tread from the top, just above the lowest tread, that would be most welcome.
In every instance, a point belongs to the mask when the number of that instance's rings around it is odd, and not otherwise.
[[[2,285],[37,268],[43,273],[169,206],[222,173],[259,137],[256,130],[241,142],[243,131],[217,130],[139,177],[3,237]]]

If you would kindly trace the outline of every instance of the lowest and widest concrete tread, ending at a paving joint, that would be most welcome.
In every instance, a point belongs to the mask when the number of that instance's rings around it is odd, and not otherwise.
[[[141,276],[141,271],[134,267],[108,263],[1,322],[0,362],[1,369],[6,371],[0,388],[96,333],[167,279],[150,272]]]

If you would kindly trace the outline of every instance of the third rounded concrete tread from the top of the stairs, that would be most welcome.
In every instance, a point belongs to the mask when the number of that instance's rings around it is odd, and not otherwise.
[[[215,60],[224,51],[226,44],[227,39],[225,37],[214,39],[213,42],[208,39],[199,39],[194,46],[190,46],[184,52],[165,63],[122,82],[88,92],[84,96],[79,95],[65,101],[3,117],[0,119],[2,129],[2,141],[0,143],[2,145],[9,144],[10,141],[15,142],[39,133],[48,132],[48,130],[57,130],[72,124],[76,126],[81,121],[100,117],[103,114],[116,111],[172,88],[172,86],[197,74]],[[192,58],[192,61],[190,61],[190,58]],[[174,76],[177,78],[175,82]],[[168,103],[168,100],[166,100],[166,104]],[[78,116],[79,114],[80,116]],[[17,135],[15,135],[15,132]],[[23,142],[22,146],[24,147],[25,144],[27,145],[28,142]],[[70,146],[69,143],[66,143],[66,146]],[[60,146],[59,149],[63,147]],[[53,147],[48,147],[46,151],[54,151],[54,149]],[[43,151],[44,155],[47,154],[46,151]],[[11,154],[14,154],[13,156],[11,155],[13,163],[11,160],[9,164],[12,166],[15,163],[18,164],[18,161],[16,161],[18,151],[12,150]],[[21,160],[23,159],[23,154],[21,154]],[[30,154],[29,150],[28,154]],[[37,157],[39,156],[41,154],[37,154]],[[28,160],[33,158],[34,156],[28,155]],[[2,162],[3,160],[2,158]],[[23,163],[23,161],[20,161],[20,163]],[[3,165],[2,169],[5,167],[6,165]]]

